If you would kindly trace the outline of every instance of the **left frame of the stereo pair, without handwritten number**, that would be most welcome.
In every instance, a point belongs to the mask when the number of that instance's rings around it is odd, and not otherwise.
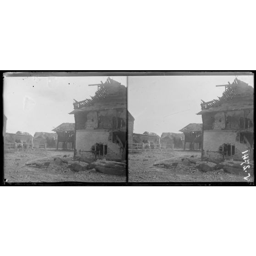
[[[127,182],[127,77],[4,76],[8,183]]]

